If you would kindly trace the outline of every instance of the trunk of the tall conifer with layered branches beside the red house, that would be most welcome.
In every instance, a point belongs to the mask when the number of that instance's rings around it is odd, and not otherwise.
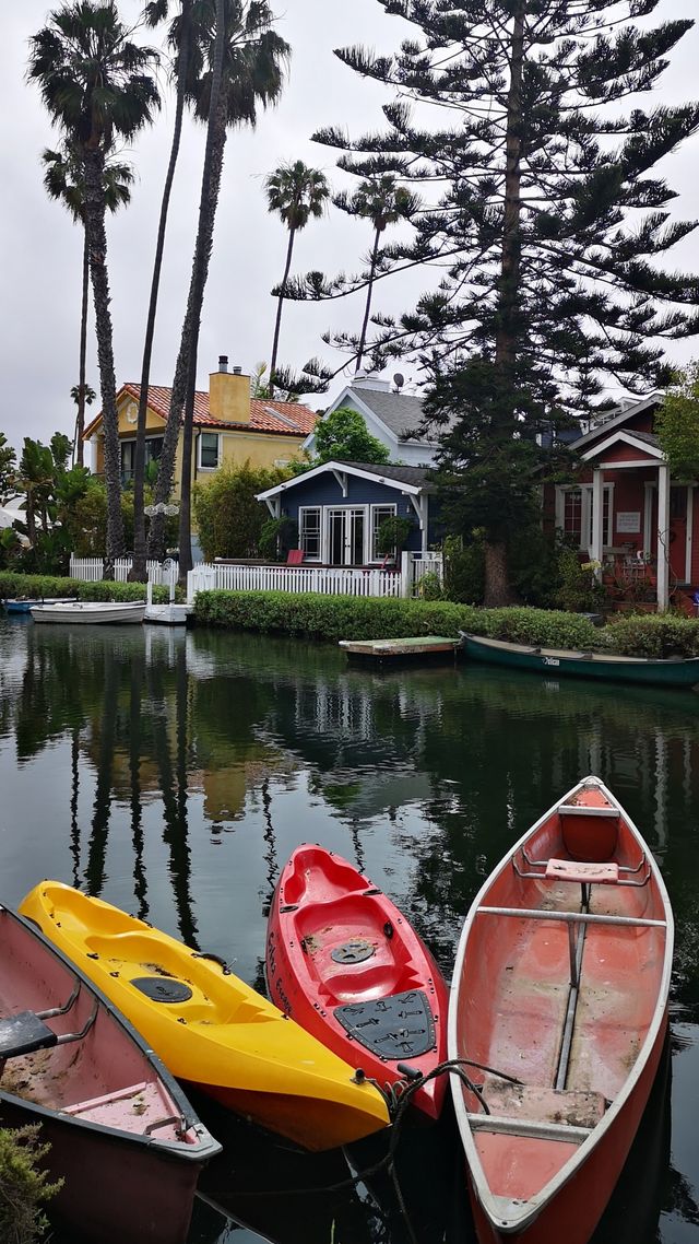
[[[500,259],[499,326],[495,336],[495,366],[499,372],[499,420],[505,435],[514,434],[511,404],[512,369],[517,355],[520,264],[521,264],[521,122],[522,70],[526,0],[517,0],[514,14],[510,52],[510,87],[507,91],[507,122],[505,132],[505,214],[502,253]],[[514,593],[507,576],[506,545],[501,535],[486,537],[485,592],[488,606],[511,605]]]

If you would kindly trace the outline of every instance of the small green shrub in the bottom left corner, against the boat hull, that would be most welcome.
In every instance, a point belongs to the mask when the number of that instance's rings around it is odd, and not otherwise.
[[[0,1239],[2,1244],[34,1244],[47,1222],[41,1207],[53,1197],[62,1181],[49,1183],[40,1169],[49,1144],[40,1144],[40,1128],[0,1127]]]

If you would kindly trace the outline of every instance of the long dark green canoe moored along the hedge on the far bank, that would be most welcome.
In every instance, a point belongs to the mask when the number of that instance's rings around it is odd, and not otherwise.
[[[652,661],[644,657],[613,657],[601,653],[567,652],[558,648],[532,648],[504,639],[464,636],[468,661],[525,669],[549,678],[602,678],[608,682],[652,687],[694,687],[699,684],[699,657]]]

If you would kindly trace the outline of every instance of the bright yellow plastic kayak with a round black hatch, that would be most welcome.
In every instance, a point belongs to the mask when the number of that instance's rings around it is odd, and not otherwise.
[[[93,980],[167,1067],[308,1149],[389,1123],[382,1095],[215,957],[100,898],[44,881],[20,906]]]

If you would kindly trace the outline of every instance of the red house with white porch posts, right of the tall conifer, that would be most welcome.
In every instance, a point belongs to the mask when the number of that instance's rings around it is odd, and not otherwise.
[[[627,404],[573,442],[583,470],[575,485],[556,486],[553,510],[591,560],[613,566],[631,595],[634,580],[652,585],[667,610],[670,597],[692,606],[699,585],[699,503],[694,483],[670,479],[654,433],[660,402],[653,393]]]

